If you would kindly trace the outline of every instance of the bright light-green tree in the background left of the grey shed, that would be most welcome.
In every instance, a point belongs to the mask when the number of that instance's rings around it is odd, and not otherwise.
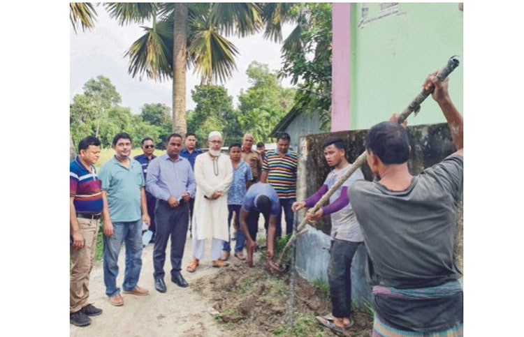
[[[295,90],[282,87],[277,72],[267,64],[254,61],[246,74],[252,87],[238,96],[240,127],[252,133],[255,142],[271,142],[269,134],[291,109]]]

